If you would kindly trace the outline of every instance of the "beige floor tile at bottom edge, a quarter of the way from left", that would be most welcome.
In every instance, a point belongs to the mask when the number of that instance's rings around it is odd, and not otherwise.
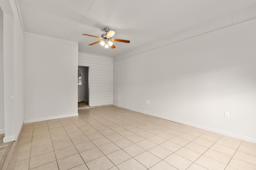
[[[62,158],[57,160],[57,162],[60,170],[68,170],[70,168],[74,168],[75,166],[84,164],[84,161],[79,154],[74,154],[72,156]]]

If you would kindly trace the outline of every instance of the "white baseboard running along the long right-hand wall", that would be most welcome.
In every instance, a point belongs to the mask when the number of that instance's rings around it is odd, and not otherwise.
[[[122,106],[118,106],[118,105],[114,105],[114,106],[122,107]],[[235,133],[230,133],[230,132],[227,132],[227,131],[221,131],[219,129],[214,129],[214,128],[211,128],[211,127],[206,127],[206,126],[197,125],[197,124],[190,123],[190,122],[185,122],[185,121],[181,121],[181,120],[177,120],[177,119],[172,119],[170,117],[164,117],[164,116],[157,115],[157,114],[154,114],[154,113],[146,113],[146,112],[142,112],[142,111],[126,108],[126,107],[122,107],[122,108],[129,109],[129,110],[132,110],[132,111],[137,111],[139,113],[144,113],[144,114],[151,115],[151,116],[154,116],[154,117],[159,117],[159,118],[166,119],[166,120],[169,120],[169,121],[174,121],[174,122],[181,123],[181,124],[184,124],[184,125],[197,127],[197,128],[200,128],[200,129],[204,129],[206,131],[219,133],[219,134],[226,135],[226,136],[229,136],[229,137],[234,137],[234,138],[241,139],[241,140],[244,140],[244,141],[249,141],[249,142],[252,142],[252,143],[256,143],[256,139],[246,137],[246,136],[243,136],[243,135],[238,135],[238,134],[235,134]]]

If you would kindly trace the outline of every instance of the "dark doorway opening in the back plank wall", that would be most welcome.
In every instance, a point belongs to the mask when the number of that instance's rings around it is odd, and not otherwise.
[[[89,67],[78,66],[78,109],[89,106]]]

